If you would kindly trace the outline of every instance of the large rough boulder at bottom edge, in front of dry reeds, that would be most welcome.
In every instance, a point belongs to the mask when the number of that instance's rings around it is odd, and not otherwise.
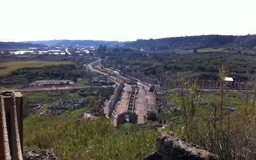
[[[143,158],[144,160],[158,159],[163,160],[218,160],[218,156],[201,147],[188,143],[185,139],[174,132],[162,132],[156,140],[156,150],[153,154]]]

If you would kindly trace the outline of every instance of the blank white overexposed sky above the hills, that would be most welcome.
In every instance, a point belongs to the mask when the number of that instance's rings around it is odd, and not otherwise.
[[[0,0],[0,41],[256,34],[255,0]]]

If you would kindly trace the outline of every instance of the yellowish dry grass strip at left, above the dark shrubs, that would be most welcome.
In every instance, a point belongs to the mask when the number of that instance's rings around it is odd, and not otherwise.
[[[45,66],[58,66],[58,65],[73,65],[70,61],[58,61],[58,62],[47,62],[47,61],[15,61],[15,62],[4,62],[0,63],[0,77],[10,76],[13,71],[18,69],[35,69]]]

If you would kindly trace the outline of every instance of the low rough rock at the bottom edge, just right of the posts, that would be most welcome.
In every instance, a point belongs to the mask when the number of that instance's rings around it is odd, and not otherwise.
[[[57,156],[51,150],[25,150],[23,153],[24,160],[58,160]]]

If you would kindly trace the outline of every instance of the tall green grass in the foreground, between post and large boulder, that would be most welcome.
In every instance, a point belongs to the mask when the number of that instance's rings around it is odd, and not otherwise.
[[[116,132],[105,118],[69,121],[29,116],[23,121],[24,149],[52,149],[59,159],[142,159],[155,150],[157,132]]]

